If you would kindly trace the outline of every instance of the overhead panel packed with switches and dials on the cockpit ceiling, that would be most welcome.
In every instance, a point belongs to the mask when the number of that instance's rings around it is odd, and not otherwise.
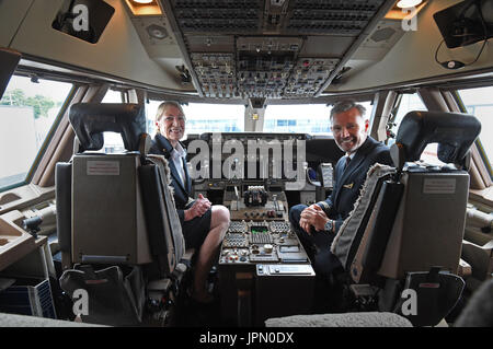
[[[389,1],[170,0],[162,4],[200,96],[299,98],[326,89]]]

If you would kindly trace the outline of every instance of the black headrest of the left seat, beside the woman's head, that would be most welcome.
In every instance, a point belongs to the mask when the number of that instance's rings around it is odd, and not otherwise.
[[[80,142],[79,152],[103,148],[103,132],[118,132],[125,149],[139,151],[146,133],[142,105],[121,103],[77,103],[70,107],[69,121]]]

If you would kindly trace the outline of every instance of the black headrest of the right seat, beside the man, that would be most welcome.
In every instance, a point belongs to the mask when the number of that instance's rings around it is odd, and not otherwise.
[[[429,143],[438,143],[438,159],[462,164],[469,148],[481,131],[481,123],[472,115],[445,112],[408,113],[392,146],[392,160],[402,168],[406,161],[420,160]]]

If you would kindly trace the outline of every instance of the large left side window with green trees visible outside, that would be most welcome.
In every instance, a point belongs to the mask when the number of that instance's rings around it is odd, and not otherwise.
[[[0,101],[0,190],[24,183],[71,89],[65,82],[10,79]]]

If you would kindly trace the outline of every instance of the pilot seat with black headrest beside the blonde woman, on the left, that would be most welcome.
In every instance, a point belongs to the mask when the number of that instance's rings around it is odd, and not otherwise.
[[[144,106],[79,103],[70,108],[74,153],[56,166],[60,286],[83,322],[173,325],[190,269],[167,160],[148,155]],[[99,152],[103,132],[125,150]],[[85,303],[84,303],[85,302]]]

